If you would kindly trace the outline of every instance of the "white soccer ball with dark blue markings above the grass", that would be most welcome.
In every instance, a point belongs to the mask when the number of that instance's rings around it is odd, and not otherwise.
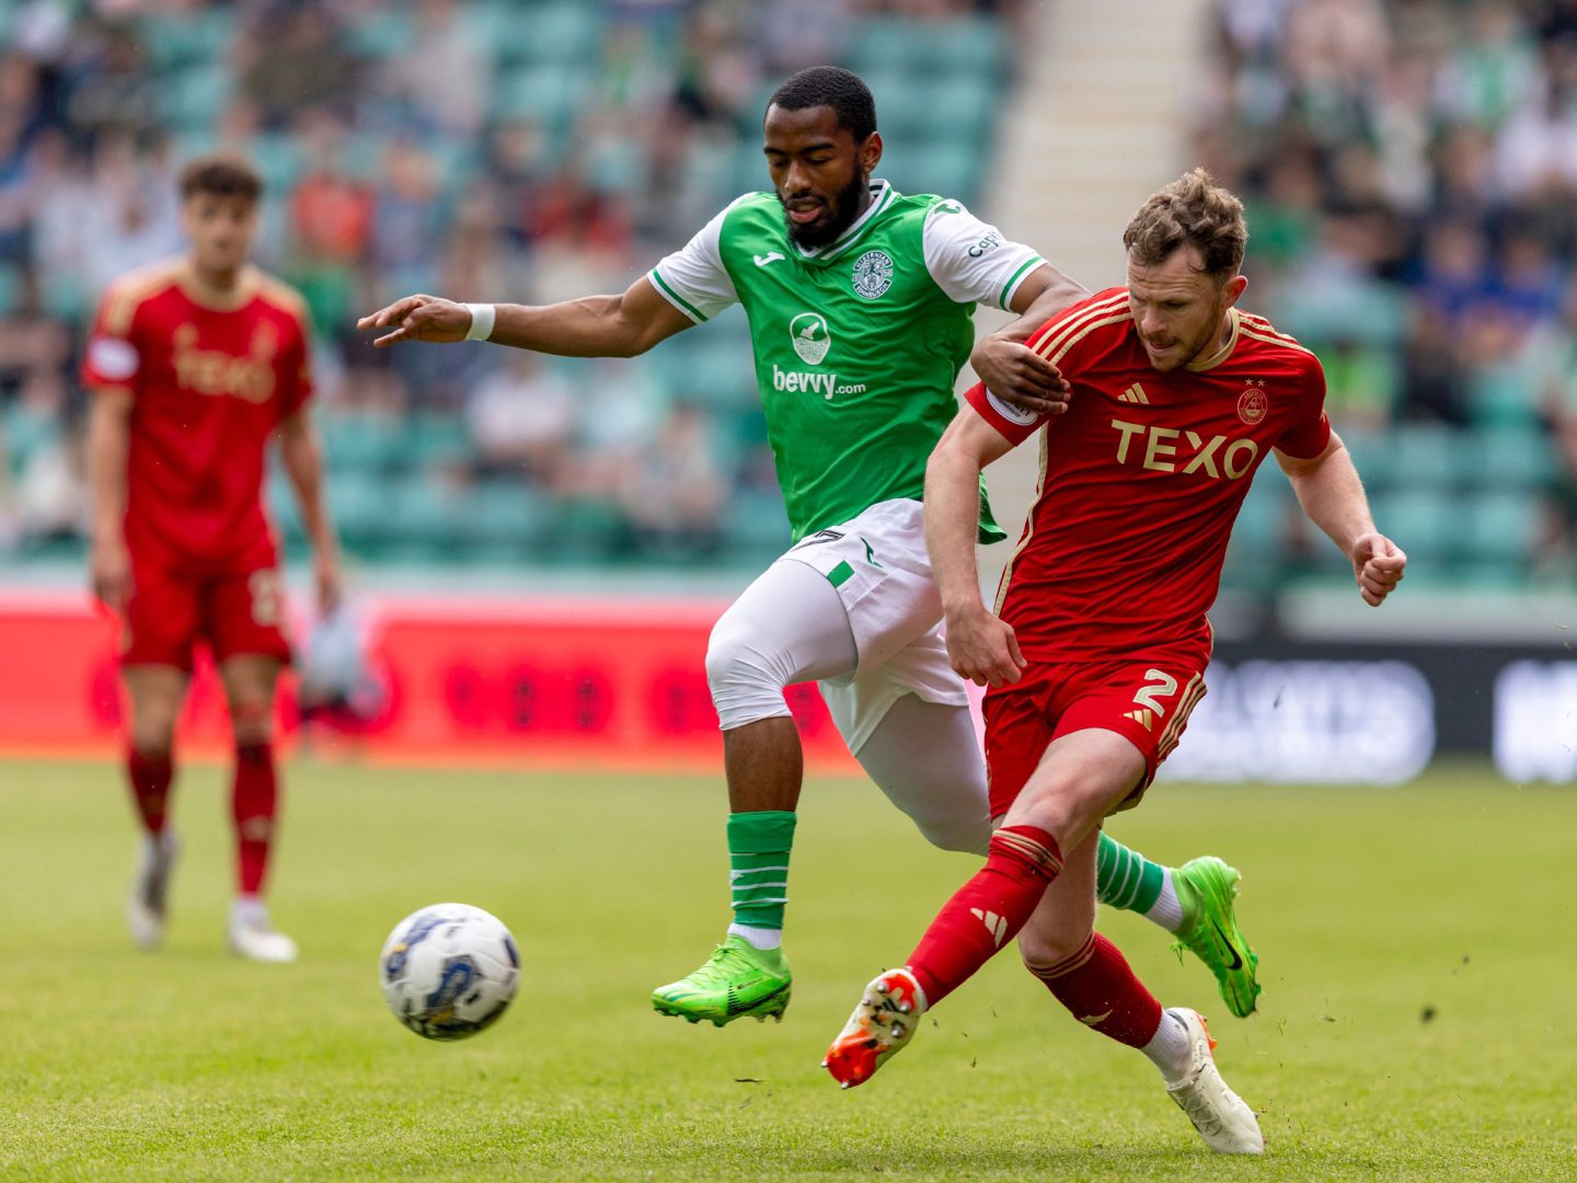
[[[498,1022],[520,984],[514,937],[470,904],[432,904],[394,926],[378,954],[394,1017],[427,1039],[465,1039]]]

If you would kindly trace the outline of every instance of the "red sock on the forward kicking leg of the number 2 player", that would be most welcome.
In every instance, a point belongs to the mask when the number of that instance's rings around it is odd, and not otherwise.
[[[1033,825],[992,834],[986,866],[930,921],[908,968],[935,1006],[1012,940],[1063,869],[1057,839]]]

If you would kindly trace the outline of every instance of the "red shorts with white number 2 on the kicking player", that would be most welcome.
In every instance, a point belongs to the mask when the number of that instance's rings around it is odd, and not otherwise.
[[[1145,779],[1118,809],[1132,809],[1176,748],[1189,711],[1205,697],[1205,667],[1178,656],[1030,666],[986,692],[986,771],[990,814],[1008,812],[1052,740],[1117,732],[1145,757]]]

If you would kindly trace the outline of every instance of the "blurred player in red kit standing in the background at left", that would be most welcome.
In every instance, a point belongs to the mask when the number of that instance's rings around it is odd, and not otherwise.
[[[123,623],[126,774],[144,828],[126,920],[137,945],[158,946],[180,850],[166,825],[175,719],[203,640],[235,735],[229,945],[252,961],[285,962],[295,942],[273,927],[262,898],[278,811],[274,685],[290,661],[279,552],[263,509],[273,437],[301,502],[319,606],[326,612],[339,599],[322,450],[306,410],[306,306],[248,263],[262,180],[246,162],[192,161],[180,191],[186,254],[110,285],[82,363],[93,393],[93,592]]]

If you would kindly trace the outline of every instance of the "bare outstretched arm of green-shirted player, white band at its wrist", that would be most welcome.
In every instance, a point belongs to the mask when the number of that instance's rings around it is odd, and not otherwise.
[[[658,295],[647,276],[623,295],[582,297],[560,304],[494,304],[487,341],[571,358],[631,358],[694,322]],[[391,330],[372,344],[465,341],[472,309],[453,300],[412,295],[356,322],[360,330]]]

